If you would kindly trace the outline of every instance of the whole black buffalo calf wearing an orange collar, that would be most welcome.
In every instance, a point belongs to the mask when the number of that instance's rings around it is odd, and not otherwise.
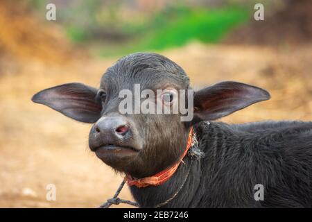
[[[131,106],[147,101],[172,111],[178,101],[187,113],[121,112],[120,92],[136,93],[138,84],[147,99],[136,96]],[[146,94],[159,89],[159,95]],[[183,90],[193,100],[181,100]],[[98,89],[69,83],[33,96],[67,117],[94,123],[89,147],[105,164],[132,182],[153,180],[143,187],[129,182],[140,207],[311,207],[312,123],[212,122],[268,99],[266,90],[233,81],[193,92],[185,71],[155,53],[121,58]],[[193,118],[181,121],[185,114]],[[197,159],[184,157],[191,128],[202,153]],[[163,171],[166,180],[156,181]],[[264,188],[263,200],[254,198],[256,185]]]

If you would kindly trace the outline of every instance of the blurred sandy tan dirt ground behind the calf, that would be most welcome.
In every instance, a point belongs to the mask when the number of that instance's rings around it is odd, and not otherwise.
[[[162,52],[184,67],[193,87],[238,80],[268,89],[272,99],[223,119],[312,119],[312,46],[205,46],[196,42]],[[121,182],[89,151],[89,124],[31,102],[46,87],[69,82],[98,86],[112,60],[81,59],[67,65],[27,63],[0,77],[0,207],[97,207]],[[56,201],[46,200],[46,185]],[[128,187],[121,196],[130,198]],[[119,207],[127,207],[120,205]]]

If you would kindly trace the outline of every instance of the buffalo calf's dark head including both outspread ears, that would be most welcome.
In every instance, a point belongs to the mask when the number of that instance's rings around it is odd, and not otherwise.
[[[155,93],[146,97],[169,108],[169,114],[123,113],[120,92],[145,89]],[[107,69],[99,89],[69,83],[44,89],[33,96],[67,117],[94,123],[89,147],[106,164],[136,178],[153,175],[175,163],[187,144],[189,128],[198,121],[214,120],[241,110],[252,103],[269,99],[263,89],[236,82],[223,82],[193,93],[191,121],[181,121],[181,112],[172,112],[180,89],[191,90],[184,70],[164,56],[135,53],[125,56]],[[144,99],[137,98],[133,105]]]

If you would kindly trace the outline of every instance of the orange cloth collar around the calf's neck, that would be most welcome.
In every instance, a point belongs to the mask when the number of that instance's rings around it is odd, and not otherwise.
[[[135,185],[136,187],[148,187],[148,186],[158,186],[162,185],[164,182],[169,180],[171,176],[173,176],[173,173],[177,171],[177,167],[179,167],[180,163],[182,162],[185,155],[187,155],[187,151],[189,151],[189,148],[192,144],[193,138],[193,127],[189,131],[189,138],[187,139],[187,148],[185,148],[184,153],[180,157],[180,160],[175,163],[172,167],[169,167],[168,169],[165,169],[164,171],[160,171],[159,173],[156,173],[154,176],[148,176],[146,178],[141,179],[135,179],[132,178],[130,175],[125,176],[125,180],[127,181],[127,184],[129,186]]]

